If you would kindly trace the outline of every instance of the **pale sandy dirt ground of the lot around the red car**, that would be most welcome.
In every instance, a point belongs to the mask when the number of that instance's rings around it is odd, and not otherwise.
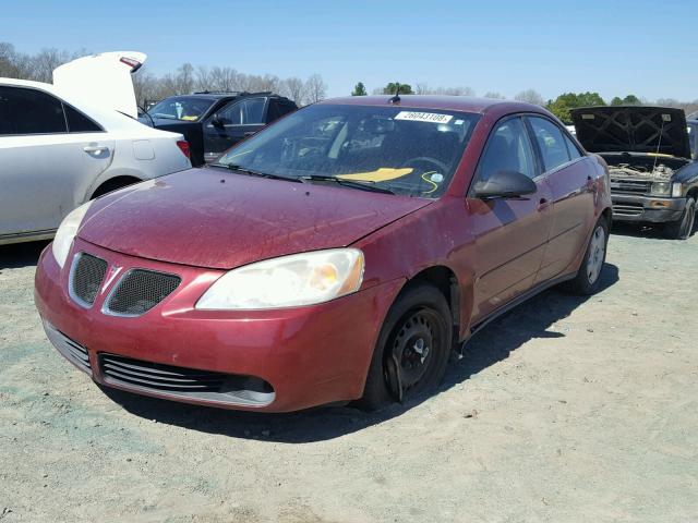
[[[698,235],[619,232],[599,295],[540,295],[370,416],[107,396],[44,337],[43,245],[0,247],[0,522],[697,521]]]

